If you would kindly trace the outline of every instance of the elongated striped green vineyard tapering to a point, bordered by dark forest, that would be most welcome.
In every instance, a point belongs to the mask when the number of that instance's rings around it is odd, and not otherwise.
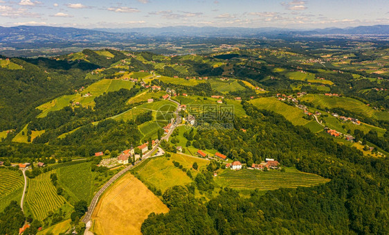
[[[219,175],[222,184],[232,189],[273,190],[279,188],[297,188],[298,186],[315,186],[329,182],[328,179],[315,174],[302,173],[293,168],[286,172],[247,170],[225,170]]]

